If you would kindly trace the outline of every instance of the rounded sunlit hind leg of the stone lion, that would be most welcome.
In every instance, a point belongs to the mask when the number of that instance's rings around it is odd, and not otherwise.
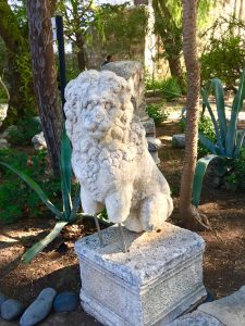
[[[155,193],[143,201],[140,222],[144,230],[161,228],[163,222],[170,216],[173,202],[170,196]]]

